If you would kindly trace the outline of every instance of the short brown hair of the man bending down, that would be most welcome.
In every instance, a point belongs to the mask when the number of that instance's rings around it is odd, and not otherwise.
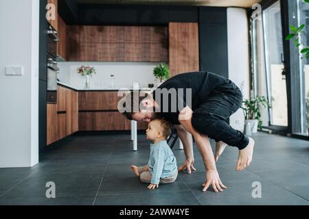
[[[128,92],[128,94],[126,94],[125,96],[125,101],[123,105],[126,111],[124,111],[122,114],[126,116],[128,120],[133,120],[132,114],[135,112],[134,106],[137,107],[137,109],[139,109],[141,101],[143,101],[148,95],[149,94],[147,92],[139,90],[133,90]],[[136,96],[137,98],[135,98]],[[126,103],[130,103],[130,105],[127,106]]]

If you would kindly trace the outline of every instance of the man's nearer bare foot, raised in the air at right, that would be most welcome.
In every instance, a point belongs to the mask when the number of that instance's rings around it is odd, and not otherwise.
[[[244,170],[252,161],[254,140],[249,137],[249,144],[239,151],[236,170]]]

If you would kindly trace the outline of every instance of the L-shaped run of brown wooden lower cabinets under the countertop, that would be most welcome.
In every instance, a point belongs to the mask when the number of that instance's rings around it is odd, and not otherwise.
[[[131,123],[117,110],[117,91],[76,91],[58,86],[56,104],[47,104],[47,145],[77,131],[130,130]],[[146,122],[138,122],[144,130]]]

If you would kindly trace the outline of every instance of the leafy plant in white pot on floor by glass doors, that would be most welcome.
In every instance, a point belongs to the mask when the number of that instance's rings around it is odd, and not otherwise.
[[[262,129],[261,111],[265,107],[271,108],[271,104],[268,103],[265,96],[256,96],[254,99],[242,101],[241,108],[244,112],[244,124],[245,126],[251,124],[252,133],[257,133],[258,129]]]

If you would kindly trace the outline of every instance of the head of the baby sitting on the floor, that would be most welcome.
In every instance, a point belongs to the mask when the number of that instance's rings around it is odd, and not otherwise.
[[[152,142],[166,140],[171,132],[172,124],[163,118],[155,118],[148,123],[148,129],[146,129],[147,139]]]

